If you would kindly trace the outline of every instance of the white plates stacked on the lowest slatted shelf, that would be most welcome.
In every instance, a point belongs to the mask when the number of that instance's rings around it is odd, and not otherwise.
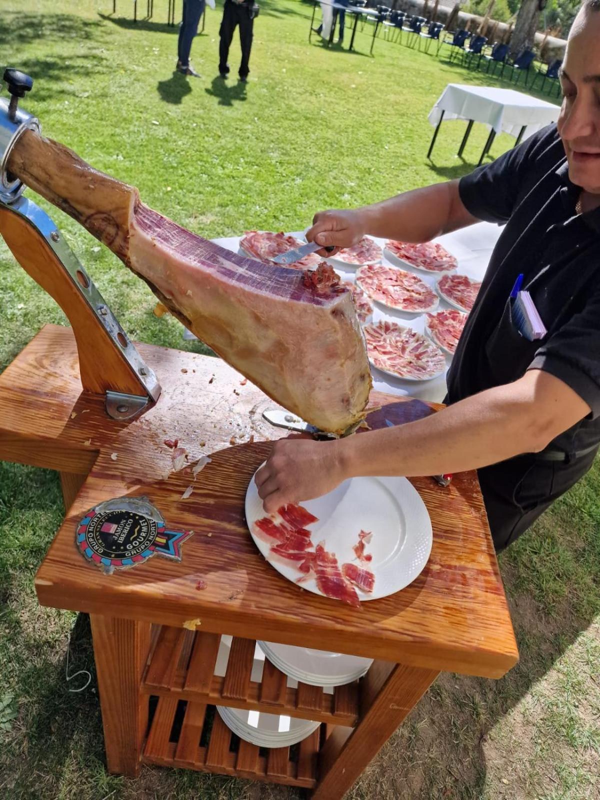
[[[320,722],[296,719],[285,714],[262,714],[239,708],[217,706],[226,726],[239,738],[258,747],[290,747],[317,730]]]

